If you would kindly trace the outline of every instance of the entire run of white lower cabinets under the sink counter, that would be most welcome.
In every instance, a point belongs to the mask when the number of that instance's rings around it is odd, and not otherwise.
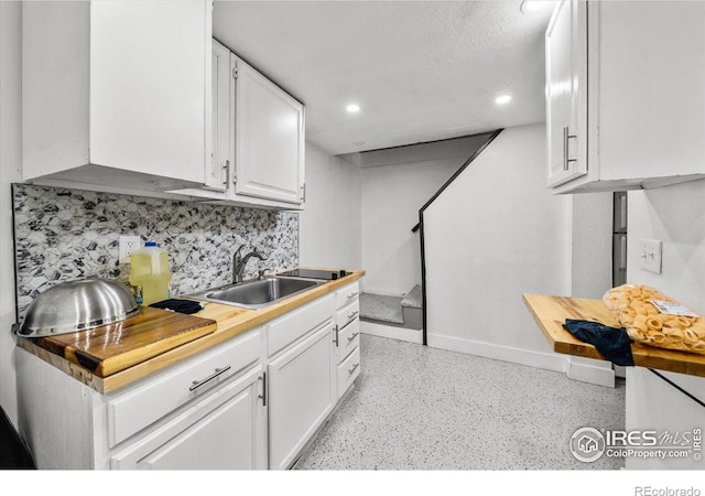
[[[20,433],[39,468],[289,468],[360,371],[356,296],[317,298],[105,395],[18,348]]]

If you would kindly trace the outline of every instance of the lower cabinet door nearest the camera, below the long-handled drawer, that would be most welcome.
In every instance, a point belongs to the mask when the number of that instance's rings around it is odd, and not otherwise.
[[[119,470],[265,468],[262,367],[221,387],[112,456]]]

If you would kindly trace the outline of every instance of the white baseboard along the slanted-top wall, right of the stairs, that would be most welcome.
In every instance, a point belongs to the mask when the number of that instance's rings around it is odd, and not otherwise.
[[[571,360],[568,355],[532,352],[440,334],[429,334],[426,339],[429,346],[434,348],[466,353],[468,355],[527,365],[544,370],[565,373],[574,380],[598,386],[615,387],[615,371],[611,369],[611,364],[609,363],[607,363],[609,365],[604,365],[595,360],[599,364],[599,366],[595,366],[587,360]]]

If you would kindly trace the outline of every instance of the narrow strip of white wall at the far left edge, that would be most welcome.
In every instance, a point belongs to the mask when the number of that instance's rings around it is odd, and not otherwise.
[[[22,160],[22,6],[0,1],[0,405],[17,425],[14,250],[10,184]]]

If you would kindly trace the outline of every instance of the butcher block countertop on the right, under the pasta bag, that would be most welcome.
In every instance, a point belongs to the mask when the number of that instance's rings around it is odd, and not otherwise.
[[[620,327],[617,319],[601,300],[523,294],[524,304],[543,332],[553,351],[585,358],[605,358],[595,346],[584,343],[563,328],[566,319],[596,321],[610,327]],[[705,377],[705,355],[631,344],[634,365]]]

